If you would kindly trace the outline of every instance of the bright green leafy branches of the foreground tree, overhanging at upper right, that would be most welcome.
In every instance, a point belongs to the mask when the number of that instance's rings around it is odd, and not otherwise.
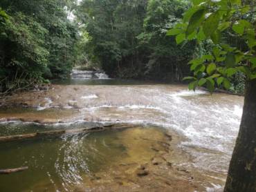
[[[195,77],[190,89],[203,85],[210,91],[215,86],[230,89],[230,80],[237,74],[244,74],[247,81],[256,79],[256,10],[253,2],[194,0],[192,3],[182,23],[167,32],[167,35],[177,35],[176,38],[183,35],[179,43],[185,39],[196,39],[199,43],[211,39],[215,44],[208,55],[190,61]],[[234,40],[227,41],[227,37],[239,39],[242,45]]]

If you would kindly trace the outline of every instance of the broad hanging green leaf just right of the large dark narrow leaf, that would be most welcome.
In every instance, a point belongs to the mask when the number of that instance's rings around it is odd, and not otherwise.
[[[203,23],[203,32],[206,37],[212,35],[219,26],[219,12],[212,13]]]

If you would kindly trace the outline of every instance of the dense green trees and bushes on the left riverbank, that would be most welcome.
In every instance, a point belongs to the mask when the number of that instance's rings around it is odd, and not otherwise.
[[[66,77],[75,61],[77,26],[65,0],[0,2],[1,91]]]

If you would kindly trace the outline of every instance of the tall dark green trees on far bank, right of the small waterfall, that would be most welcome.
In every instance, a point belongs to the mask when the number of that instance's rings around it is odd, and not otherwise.
[[[89,35],[84,51],[113,77],[179,81],[196,44],[177,46],[165,33],[187,8],[178,0],[84,0],[77,9]]]

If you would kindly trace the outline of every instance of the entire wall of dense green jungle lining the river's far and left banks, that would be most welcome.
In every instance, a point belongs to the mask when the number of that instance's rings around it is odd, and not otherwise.
[[[75,65],[111,77],[182,81],[190,75],[188,61],[213,47],[193,37],[177,45],[166,35],[191,6],[188,0],[3,0],[1,91],[67,78]],[[225,37],[244,46],[230,32]],[[230,90],[242,93],[244,75],[232,78]]]

